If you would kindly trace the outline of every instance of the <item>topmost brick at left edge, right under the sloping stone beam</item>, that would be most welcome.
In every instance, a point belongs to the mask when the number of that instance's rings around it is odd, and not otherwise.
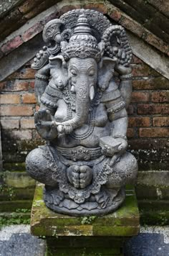
[[[28,91],[29,83],[26,81],[6,81],[2,88],[3,91]]]

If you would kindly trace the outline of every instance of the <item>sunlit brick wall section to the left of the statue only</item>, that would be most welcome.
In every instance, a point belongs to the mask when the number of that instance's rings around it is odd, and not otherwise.
[[[0,83],[4,170],[24,170],[27,152],[42,143],[34,127],[38,108],[30,63]]]

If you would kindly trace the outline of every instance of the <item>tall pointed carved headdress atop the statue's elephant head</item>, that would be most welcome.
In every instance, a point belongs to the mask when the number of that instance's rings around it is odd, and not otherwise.
[[[70,37],[68,45],[61,47],[61,51],[65,60],[72,57],[100,60],[101,52],[97,45],[97,39],[92,36],[90,25],[84,14],[79,15],[74,33]]]

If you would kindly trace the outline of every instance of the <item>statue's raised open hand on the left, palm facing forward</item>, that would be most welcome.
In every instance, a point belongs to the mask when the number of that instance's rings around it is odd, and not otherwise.
[[[52,140],[57,137],[57,127],[52,121],[49,110],[42,109],[34,114],[34,124],[37,132],[45,140]]]

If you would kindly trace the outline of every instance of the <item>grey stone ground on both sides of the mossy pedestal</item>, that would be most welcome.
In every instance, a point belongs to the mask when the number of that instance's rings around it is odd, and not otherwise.
[[[124,252],[125,256],[168,256],[169,227],[141,227],[140,234],[126,242]],[[0,230],[0,256],[44,254],[45,241],[33,237],[29,225],[13,225]]]

